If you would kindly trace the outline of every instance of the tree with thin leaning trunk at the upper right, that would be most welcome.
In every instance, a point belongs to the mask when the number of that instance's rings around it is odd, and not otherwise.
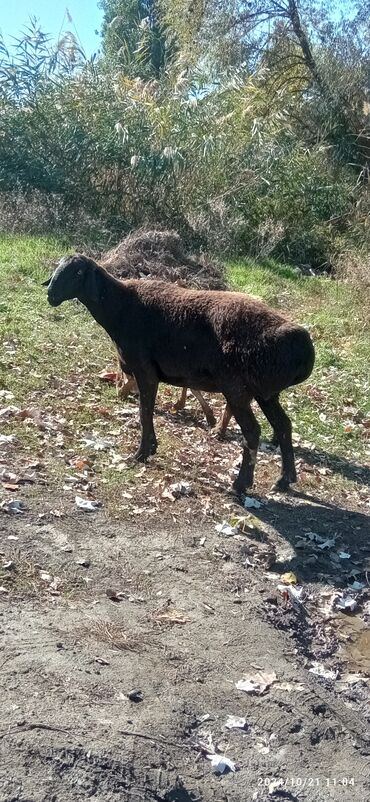
[[[189,63],[207,65],[212,79],[235,64],[260,73],[267,104],[283,92],[285,110],[298,115],[310,142],[329,144],[356,168],[366,162],[368,0],[348,0],[342,17],[321,0],[160,2]]]

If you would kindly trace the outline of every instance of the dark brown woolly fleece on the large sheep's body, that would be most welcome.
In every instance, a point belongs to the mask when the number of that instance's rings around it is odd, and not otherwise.
[[[237,371],[251,396],[264,398],[311,373],[308,332],[253,298],[158,281],[120,284],[130,308],[122,308],[113,339],[133,372],[145,359],[160,381],[222,392]]]

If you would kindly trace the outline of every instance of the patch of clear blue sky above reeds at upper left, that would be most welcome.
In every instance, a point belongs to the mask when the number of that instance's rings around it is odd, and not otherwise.
[[[64,20],[64,29],[74,31],[66,17],[66,8],[88,56],[99,48],[102,12],[98,0],[0,0],[0,31],[7,46],[11,36],[18,36],[30,16],[35,16],[41,28],[57,39]]]

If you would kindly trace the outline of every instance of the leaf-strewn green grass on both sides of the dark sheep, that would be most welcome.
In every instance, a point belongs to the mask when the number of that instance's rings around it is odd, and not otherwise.
[[[16,433],[19,453],[45,458],[55,482],[71,472],[69,460],[84,452],[84,433],[96,430],[106,436],[110,430],[119,430],[119,418],[114,416],[122,406],[114,388],[97,378],[104,367],[115,364],[114,347],[105,332],[77,302],[52,309],[41,286],[53,260],[71,250],[73,243],[67,239],[0,236],[0,390],[14,394],[10,402],[1,400],[0,407],[12,403],[22,409],[36,408],[44,416],[59,414],[66,421],[62,441],[57,433],[14,419],[3,422],[1,432]],[[354,462],[365,460],[369,439],[364,427],[354,421],[353,431],[345,431],[345,422],[353,421],[353,410],[359,419],[370,410],[369,297],[365,291],[329,279],[302,278],[273,262],[238,262],[230,264],[228,272],[235,288],[284,310],[313,334],[314,373],[284,398],[295,432],[319,451]],[[162,436],[169,436],[164,429]],[[125,430],[117,450],[132,452],[138,437],[138,429]],[[175,439],[172,446],[176,450]],[[171,454],[171,443],[167,450]],[[162,447],[162,471],[165,451]],[[105,452],[92,458],[96,479],[109,485],[113,495],[116,488],[137,481],[135,470],[112,470]]]

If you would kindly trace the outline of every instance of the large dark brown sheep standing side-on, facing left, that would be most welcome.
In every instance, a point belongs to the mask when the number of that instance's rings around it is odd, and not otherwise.
[[[260,426],[256,399],[278,438],[280,490],[296,481],[291,422],[279,393],[311,374],[309,333],[242,293],[191,290],[160,281],[119,281],[79,254],[63,259],[48,284],[52,306],[78,298],[117,346],[139,387],[142,437],[136,459],[157,449],[153,412],[159,382],[223,393],[243,433],[233,487],[253,484]]]

